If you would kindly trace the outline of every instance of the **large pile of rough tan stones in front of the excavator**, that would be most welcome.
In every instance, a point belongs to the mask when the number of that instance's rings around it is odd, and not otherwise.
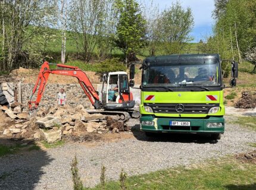
[[[54,143],[70,135],[129,131],[115,116],[106,118],[100,113],[91,114],[86,112],[82,105],[40,109],[32,118],[29,118],[31,115],[27,112],[22,112],[22,105],[18,103],[15,103],[15,106],[11,105],[10,109],[3,106],[0,109],[14,122],[4,130],[4,135],[45,140],[48,143]]]

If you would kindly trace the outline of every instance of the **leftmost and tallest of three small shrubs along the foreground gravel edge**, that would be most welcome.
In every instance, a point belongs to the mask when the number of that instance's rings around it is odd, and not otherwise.
[[[72,180],[73,180],[73,189],[74,190],[83,190],[83,183],[80,179],[77,167],[77,158],[76,156],[71,162],[71,172],[72,172]]]

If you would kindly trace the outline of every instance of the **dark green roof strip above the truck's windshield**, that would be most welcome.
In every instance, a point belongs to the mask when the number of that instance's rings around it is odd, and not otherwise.
[[[182,55],[164,55],[154,56],[145,59],[146,64],[204,64],[205,61],[217,62],[220,56],[217,53],[208,54],[182,54]]]

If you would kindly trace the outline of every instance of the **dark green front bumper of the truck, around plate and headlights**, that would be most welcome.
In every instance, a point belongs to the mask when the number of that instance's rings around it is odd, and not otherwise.
[[[207,118],[165,118],[155,117],[152,115],[142,115],[140,121],[154,121],[154,126],[141,125],[141,131],[145,132],[175,132],[175,133],[191,133],[191,134],[213,134],[224,133],[223,116],[208,116]],[[170,121],[189,121],[191,126],[170,126]],[[208,122],[221,122],[223,126],[220,128],[208,128]]]

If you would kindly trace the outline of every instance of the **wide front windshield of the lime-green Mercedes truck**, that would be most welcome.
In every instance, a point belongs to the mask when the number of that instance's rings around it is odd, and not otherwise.
[[[220,64],[161,64],[143,70],[143,87],[221,85]]]

